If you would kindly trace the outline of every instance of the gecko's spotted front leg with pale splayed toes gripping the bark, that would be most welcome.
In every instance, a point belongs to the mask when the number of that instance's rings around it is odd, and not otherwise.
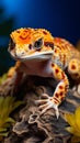
[[[59,117],[58,106],[66,97],[69,87],[69,81],[66,74],[56,64],[52,64],[52,72],[53,77],[59,81],[56,87],[56,90],[53,97],[49,97],[48,95],[44,94],[43,95],[44,99],[37,100],[36,103],[39,105],[42,113],[46,112],[46,110],[50,108],[54,108],[56,111],[56,117],[58,119]]]

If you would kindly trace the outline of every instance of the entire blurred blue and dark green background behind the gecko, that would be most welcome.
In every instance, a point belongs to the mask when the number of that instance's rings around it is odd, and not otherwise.
[[[72,44],[80,40],[80,0],[0,0],[0,75],[14,64],[9,35],[19,28],[44,28]]]

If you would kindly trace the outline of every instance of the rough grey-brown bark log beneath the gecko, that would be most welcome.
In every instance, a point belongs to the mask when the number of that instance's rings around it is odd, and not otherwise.
[[[35,101],[42,98],[43,92],[53,96],[57,82],[55,79],[28,77],[18,88],[13,96],[23,100],[24,106],[15,110],[11,116],[15,124],[10,129],[8,138],[2,143],[70,143],[71,134],[66,131],[68,123],[64,119],[66,112],[73,112],[80,103],[80,96],[70,88],[66,99],[59,106],[59,119],[54,109],[47,110],[43,116]],[[1,96],[9,89],[8,84],[0,87]],[[2,92],[3,91],[3,92]]]

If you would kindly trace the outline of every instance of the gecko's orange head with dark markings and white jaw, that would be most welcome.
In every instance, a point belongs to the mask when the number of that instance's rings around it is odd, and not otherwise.
[[[54,37],[44,29],[19,29],[10,34],[9,53],[19,61],[44,61],[53,55]]]

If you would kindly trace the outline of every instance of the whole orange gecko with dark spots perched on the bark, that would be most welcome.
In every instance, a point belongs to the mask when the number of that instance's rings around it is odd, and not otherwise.
[[[68,41],[53,37],[44,29],[19,29],[12,32],[10,37],[9,52],[18,62],[8,75],[15,76],[14,84],[18,79],[21,80],[19,76],[23,77],[24,74],[55,78],[58,85],[53,97],[44,94],[46,98],[36,102],[41,105],[42,113],[54,108],[58,118],[58,106],[69,88],[65,69],[73,79],[80,78],[80,53]]]

